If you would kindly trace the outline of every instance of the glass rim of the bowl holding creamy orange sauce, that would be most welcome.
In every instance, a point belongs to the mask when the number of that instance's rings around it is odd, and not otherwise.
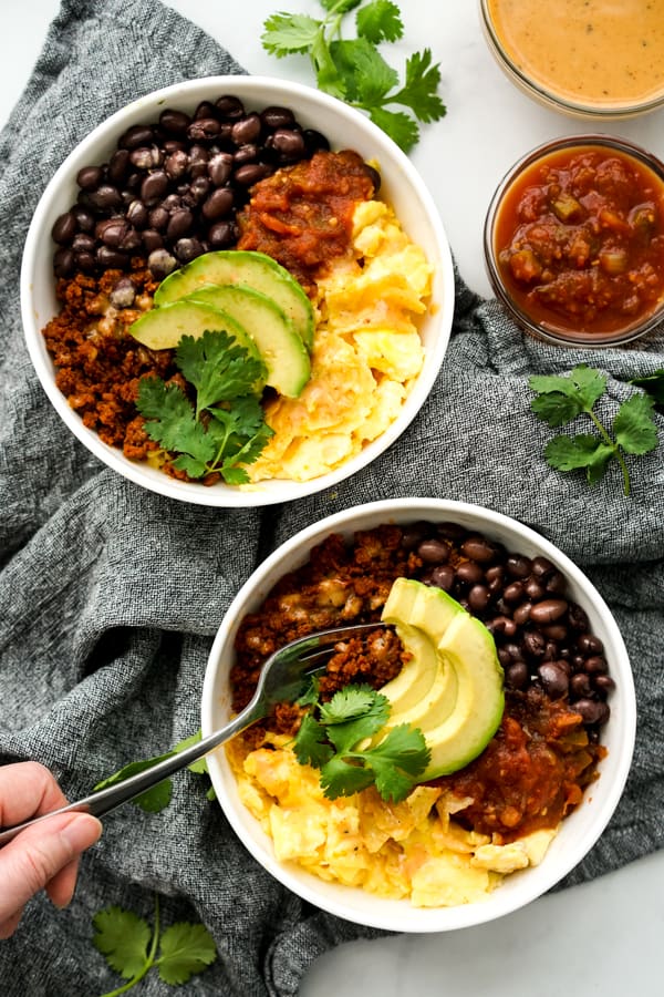
[[[484,29],[485,38],[488,42],[489,50],[498,65],[504,70],[506,75],[517,84],[528,96],[546,104],[556,111],[562,111],[572,117],[578,119],[595,119],[603,121],[620,121],[625,117],[636,117],[641,114],[647,114],[656,111],[664,105],[664,84],[661,93],[646,101],[616,103],[613,106],[604,106],[602,104],[585,103],[583,101],[574,101],[570,97],[559,96],[550,88],[544,86],[533,76],[529,76],[507,54],[498,30],[494,24],[489,12],[489,0],[479,0],[480,23]]]

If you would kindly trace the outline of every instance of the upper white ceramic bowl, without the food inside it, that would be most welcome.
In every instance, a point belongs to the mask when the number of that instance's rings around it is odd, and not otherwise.
[[[387,201],[405,230],[425,250],[435,268],[430,308],[421,325],[426,360],[398,418],[378,439],[332,473],[305,483],[271,481],[243,491],[222,483],[212,487],[179,482],[145,463],[127,460],[121,450],[102,443],[83,425],[55,387],[54,368],[41,330],[56,312],[51,228],[76,199],[76,173],[82,166],[107,162],[120,135],[132,125],[156,121],[164,107],[193,111],[203,100],[232,93],[247,110],[286,105],[303,127],[326,135],[335,148],[354,148],[376,160],[382,176],[380,196]],[[425,401],[447,349],[454,311],[452,254],[435,204],[411,161],[363,114],[318,90],[261,76],[210,76],[156,91],[123,107],[98,125],[60,166],[34,213],[23,253],[21,309],[30,357],[39,379],[66,425],[100,460],[120,474],[154,492],[212,506],[268,505],[300,498],[330,487],[374,460],[406,429]]]

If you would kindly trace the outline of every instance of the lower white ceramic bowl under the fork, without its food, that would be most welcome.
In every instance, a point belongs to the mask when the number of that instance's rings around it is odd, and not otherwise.
[[[352,537],[356,530],[381,523],[457,522],[526,556],[548,557],[568,579],[568,593],[588,613],[592,631],[604,654],[616,688],[611,695],[611,718],[602,729],[608,756],[600,762],[600,779],[580,806],[562,823],[539,866],[507,876],[486,901],[457,907],[417,908],[407,901],[384,900],[362,890],[328,883],[293,863],[274,857],[271,840],[238,799],[237,783],[224,749],[208,758],[217,798],[231,826],[253,857],[277,880],[305,901],[347,921],[394,932],[444,932],[469,927],[509,914],[558,883],[590,851],[606,826],[622,794],[634,746],[636,708],[630,661],[609,607],[585,575],[553,544],[508,516],[477,505],[436,498],[374,502],[321,520],[282,544],[251,575],[231,603],[212,645],[203,690],[203,733],[208,734],[230,716],[228,686],[234,640],[247,613],[255,611],[276,582],[309,559],[311,548],[331,533]]]

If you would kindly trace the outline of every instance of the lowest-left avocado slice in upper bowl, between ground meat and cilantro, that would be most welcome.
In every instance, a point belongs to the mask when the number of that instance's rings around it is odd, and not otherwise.
[[[261,359],[258,347],[240,323],[211,305],[175,301],[173,305],[165,305],[164,308],[152,308],[129,326],[134,339],[151,350],[173,350],[183,336],[193,336],[197,339],[206,330],[228,332],[245,347],[250,357]]]

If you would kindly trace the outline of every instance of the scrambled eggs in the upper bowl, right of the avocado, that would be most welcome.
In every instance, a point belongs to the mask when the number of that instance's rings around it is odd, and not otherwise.
[[[424,362],[415,325],[432,267],[383,202],[357,205],[354,258],[319,279],[311,378],[295,399],[266,408],[274,430],[252,482],[309,481],[339,466],[396,419]]]

